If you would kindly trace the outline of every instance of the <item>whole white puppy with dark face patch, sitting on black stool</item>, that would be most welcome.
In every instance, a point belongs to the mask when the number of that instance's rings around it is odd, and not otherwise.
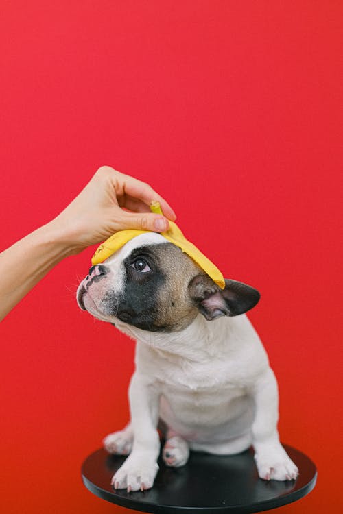
[[[104,439],[108,452],[130,454],[113,476],[116,489],[152,487],[161,426],[169,466],[185,465],[190,449],[228,455],[253,445],[260,478],[296,478],[276,427],[274,373],[243,314],[258,301],[241,282],[220,289],[154,232],[91,268],[78,288],[80,308],[137,340],[131,421]]]

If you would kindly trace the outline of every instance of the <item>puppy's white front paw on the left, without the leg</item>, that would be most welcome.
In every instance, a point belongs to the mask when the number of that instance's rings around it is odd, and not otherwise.
[[[111,484],[115,489],[127,489],[129,493],[145,491],[154,484],[157,472],[156,462],[149,463],[146,458],[129,462],[127,459],[113,476]]]

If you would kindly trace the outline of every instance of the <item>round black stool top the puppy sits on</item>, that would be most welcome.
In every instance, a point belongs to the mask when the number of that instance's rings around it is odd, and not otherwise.
[[[191,452],[187,465],[160,469],[154,487],[148,491],[115,491],[110,480],[125,457],[97,450],[82,465],[84,485],[103,500],[136,511],[158,514],[243,514],[266,511],[295,502],[316,485],[316,466],[302,452],[284,445],[299,468],[291,482],[261,480],[252,449],[233,456]]]

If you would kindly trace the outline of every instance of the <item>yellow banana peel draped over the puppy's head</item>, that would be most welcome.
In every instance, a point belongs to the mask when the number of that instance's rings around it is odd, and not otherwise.
[[[163,215],[158,201],[151,204],[150,210],[156,214]],[[117,250],[123,247],[123,245],[130,241],[130,239],[133,239],[140,234],[146,234],[147,232],[150,232],[150,230],[119,230],[119,232],[110,236],[97,248],[92,257],[93,266],[104,262],[104,260],[117,252]],[[213,264],[213,262],[211,262],[211,260],[204,256],[204,254],[202,254],[202,252],[200,252],[193,243],[187,241],[176,223],[169,221],[169,230],[167,230],[167,232],[161,232],[161,236],[165,237],[167,241],[182,249],[182,252],[185,252],[185,254],[191,257],[196,264],[200,266],[200,268],[202,268],[218,286],[220,286],[221,289],[224,289],[225,280],[220,270]]]

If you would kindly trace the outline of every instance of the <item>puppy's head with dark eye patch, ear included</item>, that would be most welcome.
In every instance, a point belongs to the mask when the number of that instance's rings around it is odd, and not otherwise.
[[[220,289],[187,254],[161,234],[128,241],[78,287],[78,305],[123,329],[177,332],[199,313],[209,321],[245,313],[259,301],[252,287],[226,280]]]

